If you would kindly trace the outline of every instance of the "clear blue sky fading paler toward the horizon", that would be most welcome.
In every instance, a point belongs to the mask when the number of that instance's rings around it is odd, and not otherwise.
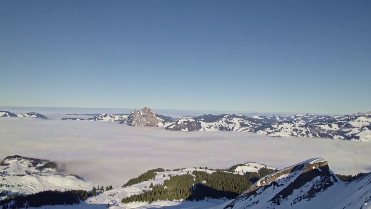
[[[371,110],[371,1],[0,2],[0,106]]]

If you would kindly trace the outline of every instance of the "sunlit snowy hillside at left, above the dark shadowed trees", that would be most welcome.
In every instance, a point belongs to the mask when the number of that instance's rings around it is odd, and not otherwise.
[[[8,156],[0,163],[0,193],[30,194],[44,190],[86,190],[91,187],[91,182],[85,182],[76,175],[62,175],[57,168],[58,165],[49,160]]]

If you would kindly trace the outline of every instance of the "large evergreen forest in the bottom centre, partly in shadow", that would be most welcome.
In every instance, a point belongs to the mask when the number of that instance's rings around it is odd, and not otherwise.
[[[263,168],[262,168],[263,169]],[[273,170],[260,169],[259,174],[266,176]],[[143,193],[122,199],[122,203],[148,202],[156,200],[203,200],[205,197],[234,199],[252,186],[261,177],[256,172],[246,172],[246,175],[236,175],[225,171],[208,174],[204,171],[193,171],[191,174],[170,176],[164,184],[149,186]]]

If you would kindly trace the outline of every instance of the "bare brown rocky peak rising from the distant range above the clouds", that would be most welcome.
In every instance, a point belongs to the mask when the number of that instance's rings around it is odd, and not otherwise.
[[[133,110],[128,118],[125,120],[125,124],[131,126],[158,126],[160,120],[156,114],[148,107],[144,107],[142,110]]]

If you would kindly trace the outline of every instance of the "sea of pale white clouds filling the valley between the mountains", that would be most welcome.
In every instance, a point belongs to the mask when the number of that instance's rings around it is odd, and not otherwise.
[[[118,122],[0,118],[0,158],[44,158],[95,184],[122,186],[152,168],[227,168],[256,161],[276,168],[324,157],[335,173],[370,172],[371,143],[272,138],[229,131],[177,132]]]

